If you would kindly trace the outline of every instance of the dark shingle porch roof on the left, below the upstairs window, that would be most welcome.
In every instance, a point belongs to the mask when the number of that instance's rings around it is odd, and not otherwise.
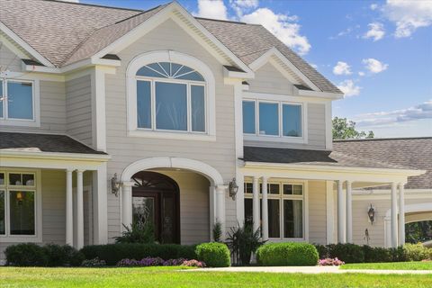
[[[102,154],[66,135],[0,132],[1,150]]]

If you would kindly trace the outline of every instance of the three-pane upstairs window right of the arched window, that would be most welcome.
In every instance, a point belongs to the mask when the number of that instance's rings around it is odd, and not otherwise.
[[[243,133],[257,136],[302,138],[302,104],[243,101]]]

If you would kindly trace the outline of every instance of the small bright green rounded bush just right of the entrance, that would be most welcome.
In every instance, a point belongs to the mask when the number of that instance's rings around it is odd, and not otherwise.
[[[202,243],[195,249],[198,260],[203,261],[209,267],[229,267],[231,258],[229,248],[222,243]]]

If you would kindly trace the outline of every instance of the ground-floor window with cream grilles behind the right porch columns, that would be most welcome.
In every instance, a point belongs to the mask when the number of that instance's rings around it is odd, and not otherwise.
[[[268,237],[304,238],[303,184],[272,182],[267,184]],[[253,220],[253,184],[245,182],[245,220]],[[260,215],[262,184],[259,184]],[[260,217],[261,219],[261,217]]]

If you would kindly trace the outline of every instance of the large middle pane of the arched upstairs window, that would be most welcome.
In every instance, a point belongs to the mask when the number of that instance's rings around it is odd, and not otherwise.
[[[186,85],[156,83],[156,128],[187,130]]]

